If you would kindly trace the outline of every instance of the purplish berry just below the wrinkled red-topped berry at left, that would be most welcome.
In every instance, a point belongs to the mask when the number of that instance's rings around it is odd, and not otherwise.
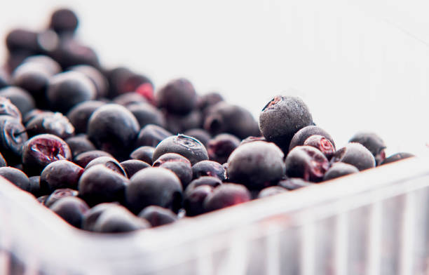
[[[40,187],[46,193],[56,189],[77,189],[83,168],[71,161],[60,160],[49,163],[41,172]],[[44,191],[45,192],[45,191]]]

